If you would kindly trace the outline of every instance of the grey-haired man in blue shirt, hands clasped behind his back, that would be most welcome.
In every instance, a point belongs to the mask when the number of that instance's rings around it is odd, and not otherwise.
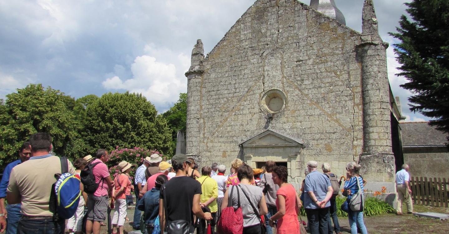
[[[308,161],[308,175],[304,185],[304,208],[311,234],[328,234],[327,214],[332,197],[332,185],[324,174],[317,171],[318,163]]]

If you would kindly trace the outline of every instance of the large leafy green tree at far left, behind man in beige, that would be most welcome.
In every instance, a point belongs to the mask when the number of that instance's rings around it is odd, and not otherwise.
[[[72,97],[42,84],[30,84],[6,95],[0,104],[0,164],[17,159],[22,142],[36,132],[52,135],[57,155],[75,158],[85,150]]]

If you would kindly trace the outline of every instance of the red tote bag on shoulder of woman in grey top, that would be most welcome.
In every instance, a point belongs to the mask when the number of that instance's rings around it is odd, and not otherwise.
[[[237,189],[238,208],[234,210],[232,206],[232,192],[234,187]],[[240,207],[240,192],[238,186],[232,186],[231,195],[228,200],[228,207],[221,211],[220,220],[217,224],[217,231],[220,234],[242,234],[243,232],[243,213]]]

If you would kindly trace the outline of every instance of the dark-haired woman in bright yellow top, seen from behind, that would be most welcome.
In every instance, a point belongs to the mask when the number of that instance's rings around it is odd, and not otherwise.
[[[214,233],[215,228],[215,216],[218,211],[217,201],[218,198],[218,184],[217,181],[211,178],[212,168],[205,166],[201,169],[202,176],[197,180],[201,183],[201,197],[200,197],[200,205],[201,208],[207,207],[211,210],[212,220],[211,220],[211,230]],[[205,228],[206,221],[201,219],[198,225],[198,234],[207,233],[207,229]]]

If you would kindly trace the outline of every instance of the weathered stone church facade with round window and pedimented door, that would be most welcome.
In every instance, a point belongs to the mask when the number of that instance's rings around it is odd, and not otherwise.
[[[255,1],[206,57],[201,40],[194,46],[186,153],[202,165],[274,160],[297,188],[308,160],[338,175],[356,161],[374,190],[394,192],[392,121],[401,116],[387,46],[372,0],[361,33],[296,0]]]

